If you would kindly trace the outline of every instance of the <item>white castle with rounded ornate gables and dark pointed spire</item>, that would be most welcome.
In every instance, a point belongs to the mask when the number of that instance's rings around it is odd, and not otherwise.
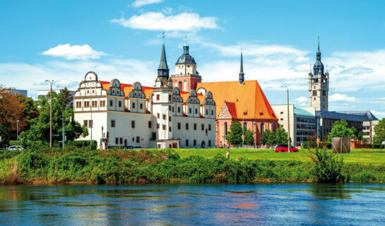
[[[178,68],[177,68],[178,70]],[[139,145],[143,148],[215,147],[215,101],[205,95],[172,88],[165,44],[153,88],[139,82],[99,81],[85,74],[73,96],[75,120],[88,127],[100,148]]]

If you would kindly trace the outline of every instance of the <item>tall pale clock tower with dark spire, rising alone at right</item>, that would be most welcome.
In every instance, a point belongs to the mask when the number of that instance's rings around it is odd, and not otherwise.
[[[312,70],[309,72],[309,100],[310,107],[315,107],[316,111],[328,111],[328,78],[329,74],[326,69],[324,73],[324,64],[321,62],[321,51],[316,52],[316,62]]]

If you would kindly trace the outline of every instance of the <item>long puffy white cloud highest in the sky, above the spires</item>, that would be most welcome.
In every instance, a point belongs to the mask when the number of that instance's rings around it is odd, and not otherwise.
[[[110,20],[126,28],[140,30],[191,31],[201,28],[218,28],[215,17],[201,17],[196,13],[179,13],[166,16],[164,13],[148,12],[131,18]]]

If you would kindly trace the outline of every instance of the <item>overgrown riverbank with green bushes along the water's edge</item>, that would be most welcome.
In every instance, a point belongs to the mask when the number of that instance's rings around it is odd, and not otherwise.
[[[274,153],[273,150],[243,150],[235,160],[230,150],[82,150],[60,148],[0,154],[1,184],[132,184],[132,183],[250,183],[314,182],[312,162],[304,153]],[[191,150],[199,153],[199,150]],[[206,152],[206,153],[205,153]],[[215,153],[218,152],[218,153]],[[213,155],[208,155],[212,153]],[[365,155],[385,153],[365,153]],[[246,156],[247,155],[247,156]],[[261,156],[276,156],[278,159]],[[353,155],[353,154],[350,154]],[[348,158],[350,155],[343,155]],[[259,156],[252,159],[251,156]],[[287,156],[288,158],[284,158]],[[297,157],[293,159],[292,157]],[[238,158],[238,157],[237,157]],[[377,158],[373,156],[373,158]],[[385,182],[385,165],[345,162],[346,182]]]

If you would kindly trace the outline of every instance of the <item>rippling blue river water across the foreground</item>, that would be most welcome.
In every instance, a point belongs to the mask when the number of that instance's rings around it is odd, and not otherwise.
[[[0,224],[385,225],[385,185],[0,186]]]

